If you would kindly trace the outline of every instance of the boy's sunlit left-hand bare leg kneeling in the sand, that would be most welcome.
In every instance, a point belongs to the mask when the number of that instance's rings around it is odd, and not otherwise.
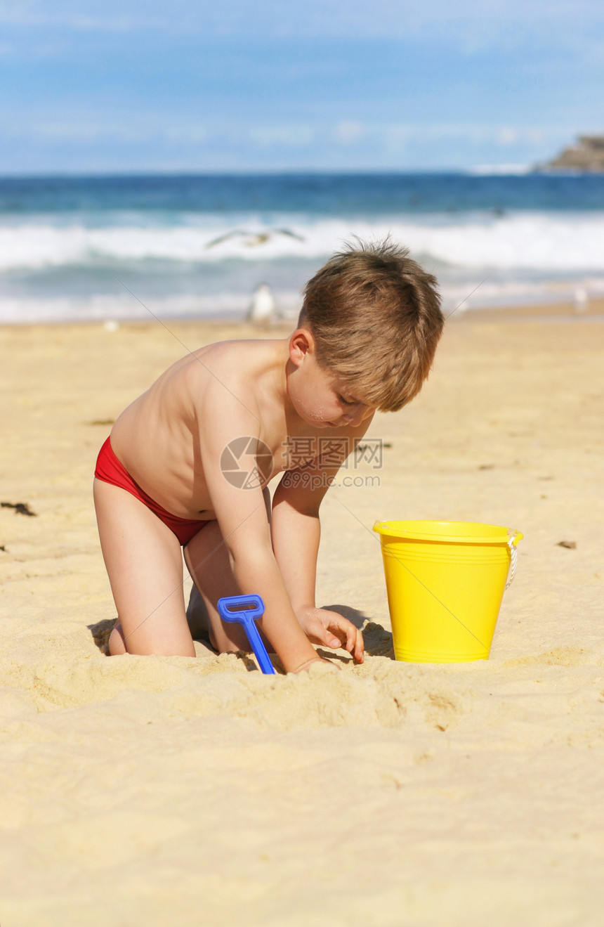
[[[175,535],[126,489],[99,479],[94,508],[121,625],[109,639],[110,653],[195,656]]]

